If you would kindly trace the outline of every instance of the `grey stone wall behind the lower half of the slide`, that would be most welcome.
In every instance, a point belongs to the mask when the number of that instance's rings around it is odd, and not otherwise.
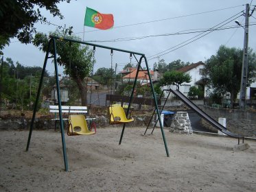
[[[227,130],[244,136],[256,136],[256,112],[248,110],[212,108],[209,106],[201,106],[200,108],[216,121],[218,121],[219,117],[226,118]],[[208,127],[216,130],[216,128],[213,128],[209,123],[207,124]]]

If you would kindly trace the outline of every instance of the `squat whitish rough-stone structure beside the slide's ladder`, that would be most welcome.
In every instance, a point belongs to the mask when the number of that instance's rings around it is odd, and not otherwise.
[[[176,114],[172,119],[170,132],[178,132],[178,133],[185,133],[185,134],[193,133],[193,130],[191,128],[191,122],[187,112],[185,111],[176,112]]]

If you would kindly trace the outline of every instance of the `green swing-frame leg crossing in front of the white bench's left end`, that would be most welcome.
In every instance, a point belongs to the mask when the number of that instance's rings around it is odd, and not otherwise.
[[[62,140],[62,151],[63,151],[63,158],[65,164],[65,171],[69,171],[69,165],[67,163],[67,151],[66,151],[66,142],[65,142],[65,134],[64,134],[64,125],[62,121],[62,107],[61,107],[61,98],[60,98],[60,84],[58,82],[58,64],[56,60],[56,40],[53,39],[54,44],[54,67],[55,67],[55,76],[56,76],[56,86],[57,86],[57,97],[58,97],[58,111],[59,111],[59,118],[60,118],[60,132],[61,132],[61,140]]]

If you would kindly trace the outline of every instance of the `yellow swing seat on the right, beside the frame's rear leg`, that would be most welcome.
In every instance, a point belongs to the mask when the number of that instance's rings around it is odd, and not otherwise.
[[[127,119],[126,114],[124,112],[124,108],[121,106],[110,106],[109,107],[110,114],[110,124],[119,124],[119,123],[130,123],[135,121],[135,119]]]

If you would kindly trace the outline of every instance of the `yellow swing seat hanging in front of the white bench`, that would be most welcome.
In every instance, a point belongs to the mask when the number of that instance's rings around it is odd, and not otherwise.
[[[96,132],[88,129],[84,115],[69,115],[69,128],[67,134],[71,135],[89,135]]]

